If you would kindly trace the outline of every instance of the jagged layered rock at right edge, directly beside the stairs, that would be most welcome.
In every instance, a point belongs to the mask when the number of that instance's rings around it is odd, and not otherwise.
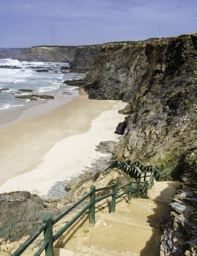
[[[181,186],[161,223],[161,256],[195,256],[197,252],[197,148],[182,156],[182,169]]]

